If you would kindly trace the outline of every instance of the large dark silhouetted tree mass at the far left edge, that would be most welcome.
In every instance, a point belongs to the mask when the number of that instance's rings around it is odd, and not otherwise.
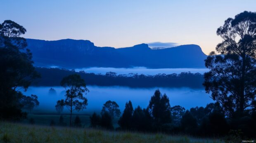
[[[0,118],[19,120],[25,117],[21,109],[25,91],[31,81],[39,77],[33,67],[32,54],[26,49],[26,39],[21,35],[26,29],[11,20],[0,24]]]

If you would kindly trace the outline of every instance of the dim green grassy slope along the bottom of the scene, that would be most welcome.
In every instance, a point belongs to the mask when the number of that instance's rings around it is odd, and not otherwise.
[[[1,143],[221,143],[215,139],[0,122]]]

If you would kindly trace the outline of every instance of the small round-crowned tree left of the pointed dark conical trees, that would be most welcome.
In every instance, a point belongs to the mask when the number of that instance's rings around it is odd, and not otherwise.
[[[119,117],[121,112],[119,109],[119,105],[115,101],[107,101],[101,110],[101,115],[104,113],[109,113],[109,115],[114,118],[114,117]]]

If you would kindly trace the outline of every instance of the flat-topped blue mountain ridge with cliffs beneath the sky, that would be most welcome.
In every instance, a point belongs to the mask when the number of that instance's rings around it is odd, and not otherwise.
[[[198,45],[151,49],[147,44],[117,48],[97,47],[89,40],[26,39],[35,66],[62,68],[204,68],[206,54]]]

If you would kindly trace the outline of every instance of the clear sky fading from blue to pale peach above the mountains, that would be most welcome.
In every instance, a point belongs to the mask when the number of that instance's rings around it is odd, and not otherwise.
[[[27,29],[25,38],[83,39],[96,46],[197,44],[215,50],[228,17],[256,12],[256,0],[0,0],[0,22]]]

